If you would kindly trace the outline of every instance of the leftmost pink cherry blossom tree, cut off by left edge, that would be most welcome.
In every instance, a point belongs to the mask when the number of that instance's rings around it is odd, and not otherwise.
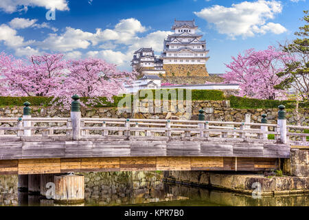
[[[3,96],[51,96],[65,79],[66,61],[62,54],[30,56],[17,60],[0,55],[0,84]]]

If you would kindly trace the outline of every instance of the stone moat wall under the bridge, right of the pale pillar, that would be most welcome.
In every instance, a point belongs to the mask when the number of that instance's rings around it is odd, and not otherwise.
[[[119,206],[179,199],[165,194],[161,181],[163,173],[132,171],[81,174],[85,181],[85,199],[90,204]]]

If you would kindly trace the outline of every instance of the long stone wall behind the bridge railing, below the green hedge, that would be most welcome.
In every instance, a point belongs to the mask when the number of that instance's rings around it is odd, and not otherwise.
[[[205,110],[205,119],[209,121],[233,121],[244,122],[246,114],[251,114],[251,122],[260,123],[262,114],[268,116],[268,123],[277,123],[278,109],[233,109],[229,100],[208,101],[197,100],[192,101],[192,113],[185,112],[186,102],[176,103],[169,101],[168,109],[164,109],[162,113],[162,103],[156,106],[153,101],[141,100],[139,103],[139,113],[127,113],[117,111],[117,108],[103,107],[82,107],[82,117],[86,118],[139,118],[139,119],[181,119],[181,120],[198,120],[198,110]],[[69,111],[62,111],[56,107],[32,106],[32,117],[70,117]],[[166,110],[166,111],[165,111]],[[297,124],[295,111],[286,109],[287,124]],[[157,113],[159,112],[159,113]],[[23,115],[23,107],[0,107],[0,117],[12,118],[21,117]],[[309,109],[300,110],[301,125],[309,123]],[[56,124],[55,124],[56,125]],[[53,126],[53,124],[52,124]]]

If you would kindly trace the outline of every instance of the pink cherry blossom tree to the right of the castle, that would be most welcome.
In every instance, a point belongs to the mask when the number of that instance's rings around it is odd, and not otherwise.
[[[240,96],[270,100],[285,97],[285,91],[275,89],[275,86],[284,80],[277,74],[284,70],[287,63],[293,61],[288,53],[269,46],[267,50],[258,52],[254,49],[246,50],[244,55],[232,56],[232,60],[226,65],[230,71],[223,77],[225,83],[240,84]]]

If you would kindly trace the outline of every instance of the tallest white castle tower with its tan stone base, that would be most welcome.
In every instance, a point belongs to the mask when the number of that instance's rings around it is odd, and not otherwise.
[[[206,61],[209,59],[203,35],[196,34],[195,21],[174,21],[174,34],[164,40],[161,54],[167,76],[208,76]]]

